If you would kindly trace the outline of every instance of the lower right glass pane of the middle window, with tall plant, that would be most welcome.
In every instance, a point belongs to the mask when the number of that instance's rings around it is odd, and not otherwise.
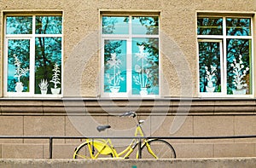
[[[132,38],[131,75],[133,95],[159,95],[158,38]]]

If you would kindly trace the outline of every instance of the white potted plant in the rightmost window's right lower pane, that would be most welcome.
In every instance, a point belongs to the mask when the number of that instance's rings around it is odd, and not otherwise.
[[[233,60],[233,63],[230,65],[233,67],[233,83],[236,87],[236,90],[232,90],[234,95],[245,95],[247,91],[247,84],[244,77],[249,71],[249,67],[245,67],[243,61],[241,61],[241,55],[239,55],[239,61],[236,59]]]

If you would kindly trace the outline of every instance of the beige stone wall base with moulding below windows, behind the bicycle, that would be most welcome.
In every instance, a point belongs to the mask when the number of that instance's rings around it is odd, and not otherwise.
[[[146,136],[256,135],[254,100],[183,100],[183,104],[180,101],[146,100],[139,105],[137,100],[0,101],[0,135],[134,136],[133,119],[118,116],[131,110],[145,120]],[[187,108],[189,111],[185,113]],[[111,129],[99,133],[97,125],[111,125]],[[168,141],[175,148],[177,159],[256,156],[256,138]],[[129,142],[113,140],[119,146]],[[72,159],[79,143],[78,139],[55,139],[53,158]],[[48,159],[49,140],[0,139],[0,158]]]

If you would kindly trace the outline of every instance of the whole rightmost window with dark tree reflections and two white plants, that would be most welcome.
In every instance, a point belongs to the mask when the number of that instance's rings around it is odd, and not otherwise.
[[[197,18],[201,96],[253,95],[252,18]]]

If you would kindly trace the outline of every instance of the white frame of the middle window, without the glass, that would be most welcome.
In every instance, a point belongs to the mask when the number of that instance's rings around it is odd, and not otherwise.
[[[102,34],[102,16],[129,16],[129,34]],[[157,35],[140,35],[140,34],[132,34],[131,32],[131,18],[133,16],[158,16],[159,17],[159,33]],[[147,95],[143,96],[143,98],[158,98],[160,97],[161,87],[161,75],[160,75],[160,14],[101,14],[101,80],[100,80],[100,90],[102,97],[112,97],[112,98],[119,98],[119,97],[126,97],[126,98],[140,98],[140,95],[132,95],[132,88],[131,88],[131,70],[132,70],[132,38],[158,38],[159,39],[159,95]],[[104,41],[105,40],[125,40],[126,41],[126,92],[122,93],[111,93],[111,92],[104,92]]]

